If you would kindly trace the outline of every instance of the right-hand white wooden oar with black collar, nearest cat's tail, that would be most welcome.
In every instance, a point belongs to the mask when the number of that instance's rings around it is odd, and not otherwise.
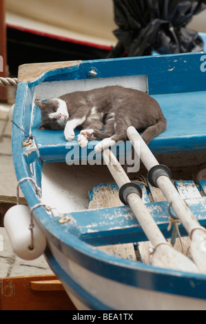
[[[142,137],[134,127],[127,129],[127,136],[134,146],[135,141],[140,142],[140,159],[150,173],[150,170],[159,163],[143,141]],[[157,168],[158,169],[158,168]],[[161,173],[160,173],[161,174]],[[180,194],[172,184],[168,176],[158,175],[156,179],[156,187],[158,187],[164,194],[165,198],[173,208],[174,212],[180,219],[189,234],[191,239],[190,252],[194,263],[198,266],[200,272],[206,273],[206,230],[198,223],[194,214],[187,206],[187,203],[181,198]]]

